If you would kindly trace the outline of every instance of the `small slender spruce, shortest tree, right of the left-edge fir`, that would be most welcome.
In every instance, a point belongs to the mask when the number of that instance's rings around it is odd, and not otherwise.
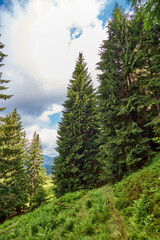
[[[41,176],[43,171],[43,151],[40,136],[34,132],[33,139],[28,147],[27,175],[28,175],[28,193],[30,199],[40,185],[44,183]]]

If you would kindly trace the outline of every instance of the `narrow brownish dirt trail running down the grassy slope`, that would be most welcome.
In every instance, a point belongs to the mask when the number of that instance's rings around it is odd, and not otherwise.
[[[109,204],[110,204],[110,211],[113,217],[114,222],[118,226],[118,230],[120,232],[120,239],[122,240],[127,240],[127,231],[123,225],[122,219],[120,217],[119,211],[115,207],[114,203],[114,195],[113,191],[110,189],[110,194],[109,194]]]

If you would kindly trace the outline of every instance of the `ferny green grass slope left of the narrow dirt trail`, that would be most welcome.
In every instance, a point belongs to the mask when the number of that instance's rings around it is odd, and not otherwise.
[[[118,240],[121,231],[118,221],[112,219],[110,191],[110,186],[104,186],[55,198],[33,212],[6,221],[0,226],[0,239]]]

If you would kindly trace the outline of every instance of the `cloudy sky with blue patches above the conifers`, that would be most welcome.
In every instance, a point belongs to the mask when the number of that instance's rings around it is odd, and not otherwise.
[[[115,2],[126,0],[0,0],[0,41],[8,57],[0,69],[10,79],[5,114],[17,107],[29,139],[38,131],[44,154],[55,156],[58,122],[67,85],[83,52],[94,87],[95,65],[107,38]]]

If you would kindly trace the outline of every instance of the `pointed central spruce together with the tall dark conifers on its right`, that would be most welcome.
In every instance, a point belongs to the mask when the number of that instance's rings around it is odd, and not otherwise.
[[[160,26],[143,14],[158,6],[133,5],[131,14],[116,4],[108,21],[97,91],[78,56],[58,129],[57,196],[119,181],[160,149]]]

